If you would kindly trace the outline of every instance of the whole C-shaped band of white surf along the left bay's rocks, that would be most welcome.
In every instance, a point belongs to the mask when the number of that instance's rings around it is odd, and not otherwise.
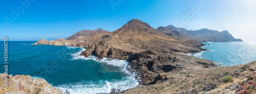
[[[139,81],[138,79],[136,79],[137,75],[128,71],[128,69],[130,69],[130,66],[128,65],[127,61],[112,58],[97,59],[98,57],[96,56],[81,56],[81,52],[85,50],[86,49],[81,48],[79,52],[71,54],[73,56],[72,59],[96,60],[101,64],[118,67],[120,72],[126,74],[126,76],[123,77],[122,80],[100,80],[97,83],[92,81],[77,82],[56,86],[57,88],[62,90],[63,93],[65,93],[66,90],[68,90],[70,93],[110,93],[112,90],[120,92],[139,85]]]

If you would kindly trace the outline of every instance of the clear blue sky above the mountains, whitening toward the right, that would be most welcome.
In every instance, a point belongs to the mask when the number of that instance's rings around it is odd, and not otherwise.
[[[5,36],[12,41],[55,40],[97,28],[113,32],[136,18],[154,28],[172,24],[192,30],[228,30],[235,38],[256,41],[254,0],[20,1],[0,1],[0,40]]]

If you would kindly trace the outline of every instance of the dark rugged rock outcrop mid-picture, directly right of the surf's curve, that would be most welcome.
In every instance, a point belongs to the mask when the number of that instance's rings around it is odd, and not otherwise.
[[[175,75],[196,74],[196,70],[215,66],[209,60],[172,52],[143,51],[130,55],[127,60],[139,72],[142,85],[161,83]]]

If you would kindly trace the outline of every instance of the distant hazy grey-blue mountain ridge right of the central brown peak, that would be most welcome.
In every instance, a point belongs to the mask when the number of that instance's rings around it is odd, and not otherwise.
[[[227,30],[224,30],[223,32],[219,32],[217,30],[209,30],[207,28],[199,30],[187,30],[185,28],[178,28],[173,25],[168,25],[166,27],[160,26],[157,29],[169,36],[193,39],[200,42],[242,42],[241,39],[235,39],[231,34],[228,33]],[[177,35],[177,33],[174,33],[174,31],[177,31],[181,34]]]

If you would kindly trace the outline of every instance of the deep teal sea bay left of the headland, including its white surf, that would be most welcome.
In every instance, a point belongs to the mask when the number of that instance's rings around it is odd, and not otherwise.
[[[4,52],[4,42],[0,42]],[[122,91],[139,85],[136,74],[128,71],[124,60],[85,58],[79,54],[86,49],[78,47],[28,45],[34,42],[9,41],[8,74],[44,78],[70,93],[110,93],[112,89]],[[4,72],[0,68],[0,73]]]

